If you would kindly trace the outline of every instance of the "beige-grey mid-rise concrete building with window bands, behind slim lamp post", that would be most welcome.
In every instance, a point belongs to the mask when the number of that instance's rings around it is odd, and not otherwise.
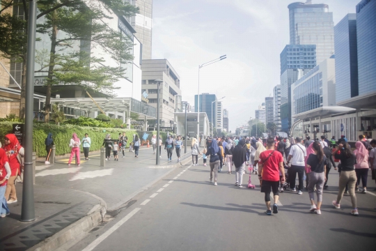
[[[159,85],[160,126],[169,127],[174,123],[176,97],[181,96],[180,77],[167,59],[149,59],[142,61],[142,89],[139,96],[148,93],[149,105],[157,107],[157,84],[155,79],[162,79]],[[182,109],[181,109],[182,111]],[[152,121],[150,121],[152,123]]]

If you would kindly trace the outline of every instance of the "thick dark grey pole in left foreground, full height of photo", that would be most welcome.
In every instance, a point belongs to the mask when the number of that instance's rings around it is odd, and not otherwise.
[[[34,211],[33,185],[33,102],[34,102],[34,64],[36,58],[36,10],[37,1],[29,1],[29,27],[27,38],[26,69],[26,110],[25,110],[25,155],[24,184],[22,186],[21,221],[36,220]]]

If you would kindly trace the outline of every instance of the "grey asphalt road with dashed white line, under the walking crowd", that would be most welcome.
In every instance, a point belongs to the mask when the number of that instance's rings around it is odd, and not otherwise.
[[[258,184],[256,175],[252,180]],[[306,191],[283,192],[279,213],[265,215],[260,188],[234,183],[234,174],[222,172],[213,185],[209,167],[202,165],[177,168],[70,250],[375,250],[376,192],[357,194],[359,216],[350,214],[349,196],[335,209],[338,173],[333,169],[322,215],[308,213]],[[368,190],[373,188],[369,177]]]

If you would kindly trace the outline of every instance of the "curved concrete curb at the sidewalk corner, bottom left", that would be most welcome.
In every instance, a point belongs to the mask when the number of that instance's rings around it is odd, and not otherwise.
[[[86,192],[87,193],[87,192]],[[88,193],[90,194],[90,193]],[[93,196],[93,194],[90,194]],[[97,197],[97,196],[95,196]],[[99,198],[99,197],[97,197]],[[99,198],[100,199],[100,198]],[[41,241],[37,245],[29,248],[28,251],[50,251],[60,248],[69,241],[74,241],[77,236],[92,229],[98,225],[104,219],[104,215],[107,212],[107,205],[103,199],[100,199],[100,204],[97,204],[91,208],[91,211],[83,218],[77,220],[77,222],[65,227],[61,231],[58,231],[53,236]]]

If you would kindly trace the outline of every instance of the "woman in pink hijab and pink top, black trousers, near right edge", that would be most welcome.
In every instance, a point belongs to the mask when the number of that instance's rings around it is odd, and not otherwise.
[[[355,156],[357,156],[357,164],[355,164],[355,173],[357,174],[357,185],[355,190],[359,191],[360,181],[363,185],[362,193],[367,192],[367,178],[368,178],[368,150],[366,146],[360,141],[355,143],[356,149],[354,150]]]

